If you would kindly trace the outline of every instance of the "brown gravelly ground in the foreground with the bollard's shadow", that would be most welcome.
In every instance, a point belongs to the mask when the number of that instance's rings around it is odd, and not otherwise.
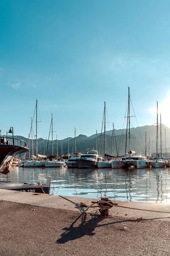
[[[0,201],[0,256],[170,255],[170,222]]]

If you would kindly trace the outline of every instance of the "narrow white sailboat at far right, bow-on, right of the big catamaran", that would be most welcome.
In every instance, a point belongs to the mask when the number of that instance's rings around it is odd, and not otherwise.
[[[159,156],[158,153],[158,102],[156,104],[157,108],[157,116],[156,116],[156,157],[154,161],[152,162],[152,167],[153,168],[163,168],[165,166],[165,161],[163,160],[164,158]]]

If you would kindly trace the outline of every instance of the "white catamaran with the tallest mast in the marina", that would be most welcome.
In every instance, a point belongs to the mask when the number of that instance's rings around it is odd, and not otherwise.
[[[128,108],[127,108],[127,129],[126,129],[126,146],[125,152],[127,147],[127,134],[128,136],[128,143],[129,143],[129,156],[122,157],[122,160],[115,160],[112,161],[112,168],[129,168],[129,167],[136,167],[136,168],[146,168],[150,166],[150,161],[147,160],[146,157],[141,155],[135,155],[136,152],[130,150],[130,88],[128,87]],[[125,154],[126,155],[126,154]]]

